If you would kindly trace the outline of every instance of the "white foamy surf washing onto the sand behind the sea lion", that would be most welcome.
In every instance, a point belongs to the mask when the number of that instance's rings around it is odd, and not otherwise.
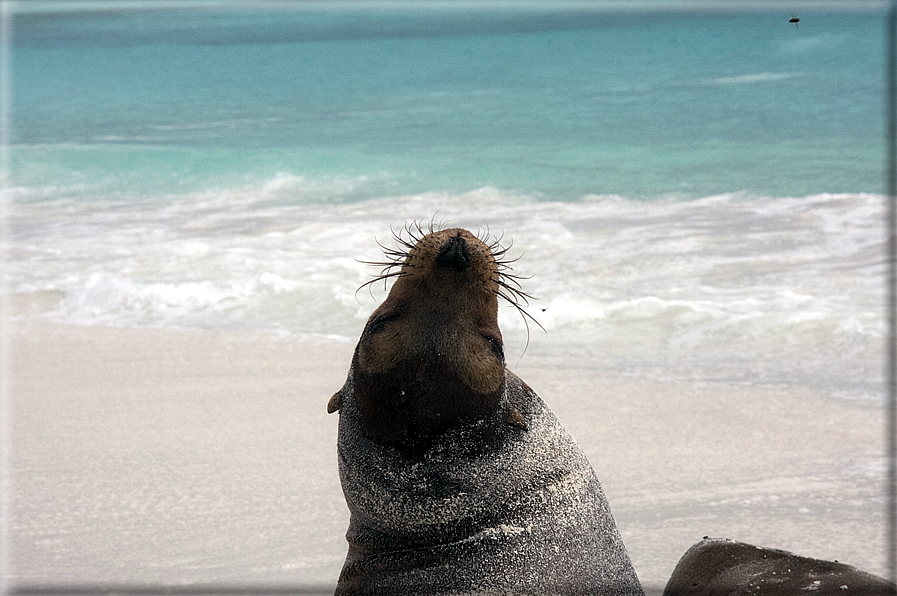
[[[114,208],[22,202],[10,221],[7,287],[53,297],[42,316],[59,321],[350,341],[388,291],[359,291],[379,270],[365,262],[383,260],[378,243],[394,246],[393,233],[408,237],[404,226],[434,222],[501,238],[519,257],[515,273],[535,297],[519,306],[547,337],[503,306],[509,357],[528,344],[600,355],[609,367],[675,357],[720,373],[762,362],[756,382],[780,382],[792,362],[804,370],[794,379],[827,371],[868,393],[879,382],[881,196],[549,202],[484,187],[301,199],[328,184],[276,175]]]

